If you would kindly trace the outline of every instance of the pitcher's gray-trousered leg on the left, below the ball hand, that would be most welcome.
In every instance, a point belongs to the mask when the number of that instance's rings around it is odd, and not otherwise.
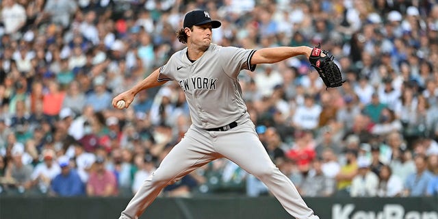
[[[146,179],[138,192],[122,211],[120,219],[136,219],[151,205],[166,185],[181,179],[192,170],[218,158],[208,145],[205,136],[190,129],[183,140],[164,157],[163,161]]]

